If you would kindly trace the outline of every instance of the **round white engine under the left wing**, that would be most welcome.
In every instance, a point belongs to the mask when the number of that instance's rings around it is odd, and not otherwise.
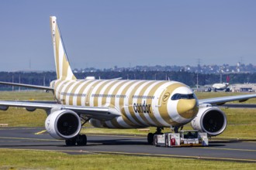
[[[56,110],[45,121],[47,132],[56,139],[70,139],[81,130],[81,120],[72,110]]]

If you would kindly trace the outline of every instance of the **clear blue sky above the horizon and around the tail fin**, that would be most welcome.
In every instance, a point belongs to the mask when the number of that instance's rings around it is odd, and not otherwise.
[[[49,16],[71,67],[256,65],[256,1],[0,2],[0,71],[54,70]],[[30,61],[30,62],[29,62]]]

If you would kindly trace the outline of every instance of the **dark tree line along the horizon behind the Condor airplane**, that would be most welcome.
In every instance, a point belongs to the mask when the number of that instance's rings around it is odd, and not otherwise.
[[[213,84],[226,82],[226,77],[230,77],[230,84],[232,83],[256,83],[256,73],[230,73],[220,76],[220,74],[203,74],[203,73],[189,73],[189,72],[167,72],[167,71],[97,71],[87,73],[74,73],[78,79],[85,79],[86,76],[95,76],[95,79],[116,79],[123,80],[175,80],[190,87],[195,87],[197,82],[199,85]],[[222,80],[220,80],[222,77]],[[14,83],[28,83],[40,86],[49,86],[50,81],[56,79],[55,72],[43,73],[23,73],[23,72],[0,72],[0,81],[14,82]],[[15,87],[15,90],[19,87]],[[0,86],[0,90],[12,90],[10,86]]]

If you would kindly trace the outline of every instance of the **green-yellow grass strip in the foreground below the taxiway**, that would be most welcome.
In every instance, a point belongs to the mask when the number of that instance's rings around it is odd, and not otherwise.
[[[255,169],[255,163],[0,149],[1,169]]]

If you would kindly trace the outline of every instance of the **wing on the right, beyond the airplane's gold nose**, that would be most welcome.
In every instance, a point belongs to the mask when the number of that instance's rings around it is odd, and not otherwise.
[[[238,95],[238,96],[229,96],[229,97],[215,97],[209,99],[200,99],[200,104],[212,104],[212,105],[222,105],[229,101],[236,101],[244,102],[248,99],[255,98],[256,94],[245,94],[245,95]]]

